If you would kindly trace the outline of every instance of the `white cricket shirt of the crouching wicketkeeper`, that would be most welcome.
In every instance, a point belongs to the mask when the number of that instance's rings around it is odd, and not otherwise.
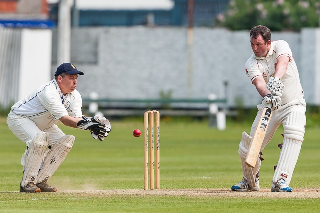
[[[23,115],[46,129],[57,123],[59,118],[69,115],[82,117],[82,97],[77,90],[63,96],[55,79],[37,88],[11,107],[17,115]]]

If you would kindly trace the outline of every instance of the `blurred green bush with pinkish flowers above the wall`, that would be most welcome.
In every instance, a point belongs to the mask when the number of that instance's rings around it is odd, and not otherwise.
[[[271,31],[299,31],[303,27],[318,27],[319,15],[318,0],[230,0],[216,22],[231,30],[262,24]]]

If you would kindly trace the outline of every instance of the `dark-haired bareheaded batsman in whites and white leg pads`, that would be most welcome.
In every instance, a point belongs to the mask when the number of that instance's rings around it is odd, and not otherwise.
[[[283,142],[280,142],[280,156],[274,167],[271,192],[292,192],[289,186],[297,163],[306,124],[306,101],[300,83],[299,73],[289,44],[284,40],[271,42],[271,31],[266,26],[254,26],[250,31],[252,56],[245,64],[245,72],[261,95],[262,103],[257,105],[258,113],[252,124],[250,134],[242,133],[239,144],[243,179],[233,185],[233,191],[258,191],[259,170],[263,158],[262,150],[271,141],[275,131],[282,124]],[[264,108],[271,108],[271,116],[265,136],[260,140],[259,154],[255,165],[246,164],[248,152],[254,149],[252,138]],[[262,116],[263,117],[263,116]],[[252,146],[250,147],[250,143]],[[255,161],[254,161],[255,162]],[[254,164],[253,162],[253,164]]]

